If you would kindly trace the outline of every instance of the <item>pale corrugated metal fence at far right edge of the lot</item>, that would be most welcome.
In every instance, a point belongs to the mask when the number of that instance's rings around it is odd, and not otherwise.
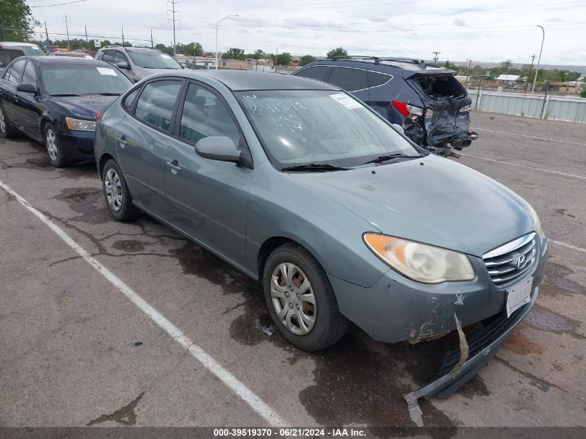
[[[474,110],[574,123],[586,123],[586,98],[468,90]]]

